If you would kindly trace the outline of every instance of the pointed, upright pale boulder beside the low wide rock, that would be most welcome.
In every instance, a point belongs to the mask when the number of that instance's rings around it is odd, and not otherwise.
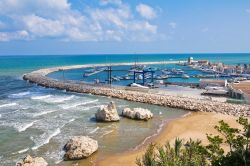
[[[95,114],[97,121],[114,122],[119,121],[120,117],[114,102],[110,102],[107,106],[102,105]]]

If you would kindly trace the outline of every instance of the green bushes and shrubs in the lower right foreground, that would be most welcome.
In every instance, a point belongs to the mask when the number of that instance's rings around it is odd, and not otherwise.
[[[186,143],[176,139],[173,146],[169,142],[165,146],[150,144],[141,159],[136,160],[138,166],[248,166],[250,165],[250,123],[248,119],[239,118],[237,122],[242,129],[232,128],[224,121],[219,121],[215,129],[219,135],[207,135],[209,144],[190,139]],[[228,145],[225,153],[222,143]]]

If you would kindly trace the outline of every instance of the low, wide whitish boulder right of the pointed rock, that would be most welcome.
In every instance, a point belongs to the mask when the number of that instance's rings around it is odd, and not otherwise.
[[[130,108],[124,108],[122,111],[122,116],[130,119],[147,121],[153,117],[153,113],[144,108],[134,108],[133,110],[131,110]]]

